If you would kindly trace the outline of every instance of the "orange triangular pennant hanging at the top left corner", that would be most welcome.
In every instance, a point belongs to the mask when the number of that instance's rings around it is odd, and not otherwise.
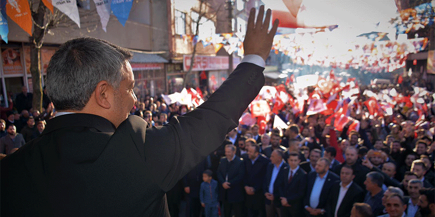
[[[26,33],[32,35],[32,16],[30,13],[29,1],[27,0],[8,0],[6,4],[6,14]]]

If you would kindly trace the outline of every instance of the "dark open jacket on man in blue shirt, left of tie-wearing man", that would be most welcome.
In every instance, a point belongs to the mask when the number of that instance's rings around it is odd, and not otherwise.
[[[272,164],[272,162],[270,162],[267,165],[267,172],[266,172],[266,176],[263,182],[263,191],[264,192],[269,192],[269,184],[270,184],[270,179],[272,178],[272,173],[273,173],[273,167],[275,167],[274,164]],[[278,175],[276,176],[275,182],[273,182],[273,192],[269,192],[271,194],[273,194],[274,200],[273,203],[275,205],[275,207],[281,207],[281,200],[279,199],[279,188],[280,185],[282,183],[282,181],[287,179],[287,174],[285,173],[285,170],[288,171],[289,165],[284,162],[281,167],[279,168],[278,171]],[[265,198],[265,203],[266,204],[270,204],[270,200],[268,200],[267,198]]]

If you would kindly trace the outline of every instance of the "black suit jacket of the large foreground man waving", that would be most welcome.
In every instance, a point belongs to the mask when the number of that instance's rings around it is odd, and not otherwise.
[[[1,216],[168,217],[165,192],[222,144],[264,84],[241,63],[209,100],[162,127],[65,114],[1,160]],[[237,103],[234,103],[237,102]]]

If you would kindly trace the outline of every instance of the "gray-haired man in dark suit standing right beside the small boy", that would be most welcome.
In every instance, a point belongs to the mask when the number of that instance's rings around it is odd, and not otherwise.
[[[242,215],[243,202],[243,159],[236,156],[234,145],[225,145],[225,157],[220,159],[217,167],[217,181],[219,182],[219,197],[223,204],[225,217]]]

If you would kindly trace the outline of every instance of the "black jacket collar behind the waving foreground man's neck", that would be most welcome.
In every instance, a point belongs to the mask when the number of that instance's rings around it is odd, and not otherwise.
[[[41,135],[65,127],[89,127],[95,128],[100,132],[108,133],[114,133],[116,130],[115,125],[104,117],[94,114],[72,113],[60,115],[48,120]]]

